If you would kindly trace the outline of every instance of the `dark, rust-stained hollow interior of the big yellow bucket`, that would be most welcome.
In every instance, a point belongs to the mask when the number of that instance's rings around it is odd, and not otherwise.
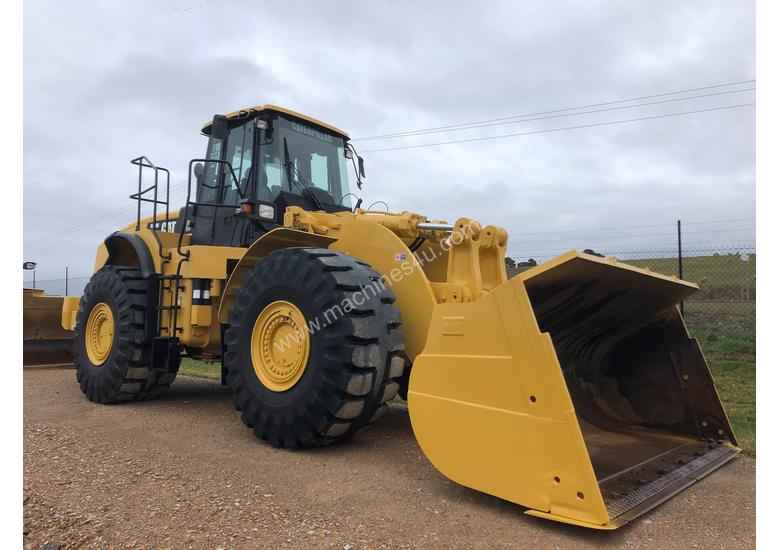
[[[628,521],[733,456],[709,369],[676,307],[695,287],[581,256],[525,286],[610,517]]]

